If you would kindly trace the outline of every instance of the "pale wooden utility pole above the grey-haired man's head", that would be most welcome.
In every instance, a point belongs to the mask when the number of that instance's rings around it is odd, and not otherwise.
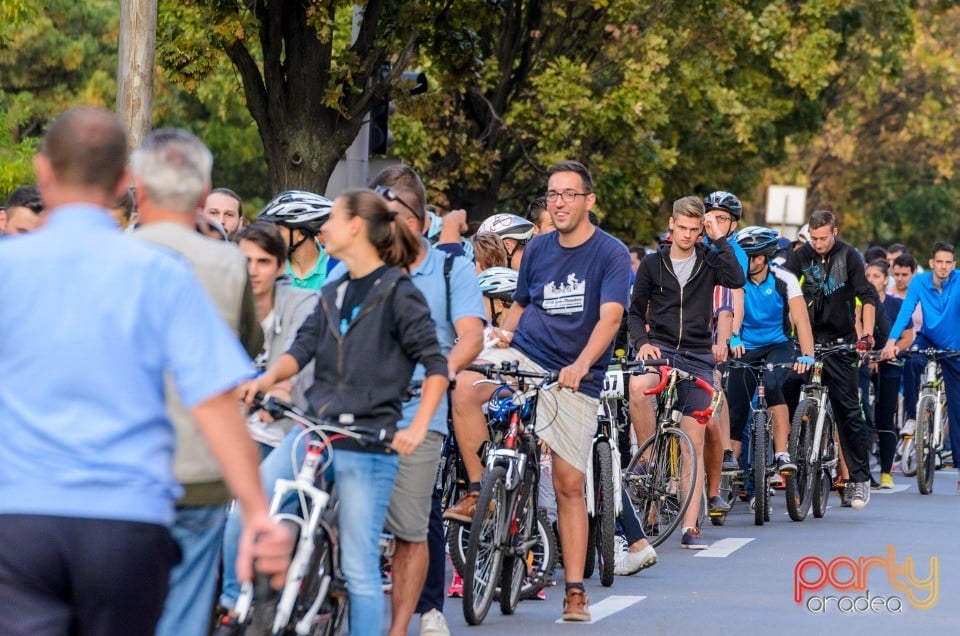
[[[157,0],[123,0],[120,6],[117,117],[135,148],[150,132],[153,112]]]

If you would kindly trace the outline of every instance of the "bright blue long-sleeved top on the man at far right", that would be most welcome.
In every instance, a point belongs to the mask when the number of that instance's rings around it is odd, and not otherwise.
[[[923,311],[923,326],[920,334],[934,346],[943,349],[960,349],[960,329],[957,329],[957,317],[960,316],[960,274],[950,272],[943,281],[942,291],[933,285],[933,272],[917,274],[907,287],[907,296],[903,299],[897,321],[890,329],[889,340],[898,340],[907,325],[912,324],[913,310],[920,305]]]

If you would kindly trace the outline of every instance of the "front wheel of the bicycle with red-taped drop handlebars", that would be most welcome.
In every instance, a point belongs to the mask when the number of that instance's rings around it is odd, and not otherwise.
[[[654,443],[656,448],[652,448]],[[644,474],[640,462],[647,451]],[[686,457],[687,459],[684,459]],[[690,437],[679,428],[667,428],[637,449],[627,466],[627,496],[654,547],[667,540],[683,521],[697,483],[697,453]]]

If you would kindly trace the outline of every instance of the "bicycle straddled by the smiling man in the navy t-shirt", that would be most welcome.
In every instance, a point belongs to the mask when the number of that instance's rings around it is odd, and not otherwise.
[[[537,506],[535,424],[539,393],[555,385],[558,374],[517,367],[516,362],[469,367],[485,376],[478,382],[497,385],[488,407],[495,436],[481,448],[484,473],[463,571],[463,616],[470,625],[486,618],[498,582],[500,611],[510,615],[517,609],[524,579],[544,587],[556,563],[556,537]],[[515,386],[504,377],[513,378]],[[528,384],[531,380],[536,382]]]

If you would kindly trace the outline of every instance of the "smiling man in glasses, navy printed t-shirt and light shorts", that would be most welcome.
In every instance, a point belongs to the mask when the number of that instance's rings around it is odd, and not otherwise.
[[[606,363],[627,306],[630,256],[623,243],[590,223],[596,196],[583,164],[564,161],[552,166],[545,199],[556,232],[527,243],[514,303],[503,328],[493,332],[500,348],[484,353],[483,361],[519,360],[522,370],[560,371],[557,387],[537,403],[537,433],[553,455],[566,577],[562,619],[589,621],[583,588],[584,471]],[[592,377],[585,380],[588,373]],[[459,523],[472,519],[483,472],[476,453],[486,436],[481,404],[492,388],[474,386],[479,378],[461,373],[453,393],[457,444],[471,482],[470,492],[445,513]]]

